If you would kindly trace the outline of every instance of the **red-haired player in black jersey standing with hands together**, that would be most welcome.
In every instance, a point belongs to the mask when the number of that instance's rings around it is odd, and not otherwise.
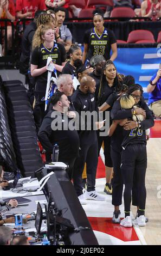
[[[37,30],[39,33],[36,33],[37,39],[35,38],[33,41],[33,54],[31,56],[31,76],[36,77],[34,117],[38,130],[44,115],[45,101],[43,97],[46,94],[47,86],[47,59],[51,57],[58,75],[65,65],[66,50],[63,45],[54,41],[54,30],[51,25],[41,25]],[[52,76],[55,76],[54,72]]]

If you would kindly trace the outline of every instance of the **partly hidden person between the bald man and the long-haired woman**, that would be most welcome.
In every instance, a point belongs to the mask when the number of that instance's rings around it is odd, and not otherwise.
[[[97,88],[100,86],[101,71],[103,66],[105,66],[106,64],[106,60],[102,55],[95,55],[91,58],[90,64],[94,68],[94,71],[91,74],[89,74],[89,76],[94,78]]]

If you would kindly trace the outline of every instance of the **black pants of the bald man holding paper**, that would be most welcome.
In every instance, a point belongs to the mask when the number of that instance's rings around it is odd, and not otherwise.
[[[80,145],[80,156],[75,160],[73,172],[73,184],[78,197],[82,192],[82,173],[86,162],[87,191],[95,190],[95,176],[98,165],[98,144],[95,141],[91,145]]]

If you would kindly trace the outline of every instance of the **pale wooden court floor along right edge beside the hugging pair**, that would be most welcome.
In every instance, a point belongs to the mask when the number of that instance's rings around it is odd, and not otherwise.
[[[147,160],[146,216],[149,222],[140,229],[147,245],[161,245],[161,138],[147,142]],[[132,212],[136,215],[136,208]]]

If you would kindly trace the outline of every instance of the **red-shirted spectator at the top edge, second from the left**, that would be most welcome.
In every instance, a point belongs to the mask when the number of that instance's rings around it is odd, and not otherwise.
[[[16,12],[18,19],[34,18],[37,10],[46,10],[44,0],[16,0]]]

